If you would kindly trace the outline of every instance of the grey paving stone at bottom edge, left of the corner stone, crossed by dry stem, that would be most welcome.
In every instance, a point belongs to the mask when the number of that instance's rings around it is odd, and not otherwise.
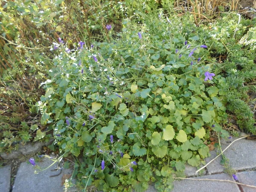
[[[233,177],[227,174],[207,175],[195,177],[197,179],[222,179],[233,180]],[[209,180],[175,180],[172,192],[240,192],[235,183]]]

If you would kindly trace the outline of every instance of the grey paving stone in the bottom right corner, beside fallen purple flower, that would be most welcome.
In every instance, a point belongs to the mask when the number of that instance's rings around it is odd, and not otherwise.
[[[240,172],[236,174],[239,183],[256,186],[256,172]],[[241,186],[244,192],[256,192],[256,188]]]

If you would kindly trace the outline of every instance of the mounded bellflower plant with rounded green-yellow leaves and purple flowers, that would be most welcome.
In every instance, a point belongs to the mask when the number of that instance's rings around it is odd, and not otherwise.
[[[185,38],[173,28],[180,21],[151,16],[139,29],[123,20],[109,42],[77,42],[73,50],[58,43],[38,109],[60,151],[76,158],[81,186],[143,191],[153,181],[172,189],[185,163],[209,156],[204,140],[212,131],[228,135],[224,78],[204,62],[211,44]]]

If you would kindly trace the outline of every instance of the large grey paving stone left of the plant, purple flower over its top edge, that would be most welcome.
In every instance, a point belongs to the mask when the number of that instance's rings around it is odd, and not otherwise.
[[[36,165],[41,169],[47,168],[53,163],[52,160],[44,159],[42,162],[36,162]],[[15,183],[12,192],[64,192],[64,186],[61,185],[61,178],[64,174],[73,173],[72,169],[63,169],[61,175],[56,177],[50,177],[51,175],[57,175],[58,171],[51,171],[57,167],[58,163],[55,163],[49,169],[35,174],[35,167],[30,163],[23,162],[18,169]],[[68,192],[76,192],[76,188],[71,188]]]

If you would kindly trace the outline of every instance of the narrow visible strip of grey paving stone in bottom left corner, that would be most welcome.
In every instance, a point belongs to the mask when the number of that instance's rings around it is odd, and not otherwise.
[[[0,192],[10,191],[11,166],[0,168]]]

